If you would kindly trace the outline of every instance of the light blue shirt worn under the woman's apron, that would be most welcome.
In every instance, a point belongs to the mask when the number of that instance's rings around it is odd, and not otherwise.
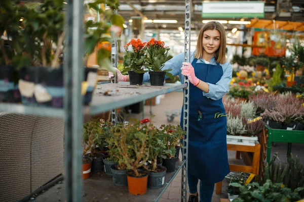
[[[190,61],[189,63],[192,63],[194,60],[194,52],[191,52],[190,55]],[[171,74],[173,74],[173,76],[178,75],[180,82],[183,83],[184,82],[184,76],[181,75],[181,70],[180,68],[182,67],[182,63],[184,62],[184,53],[180,53],[178,55],[176,55],[175,57],[173,57],[171,60],[167,61],[165,63],[165,66],[163,68],[163,70],[165,69],[172,69],[170,71]],[[205,63],[204,60],[199,59],[197,61],[197,63]],[[215,58],[212,57],[210,60],[210,65],[216,65],[216,61]],[[209,92],[206,93],[203,91],[203,95],[210,98],[210,99],[214,99],[214,100],[218,100],[220,98],[222,98],[224,96],[224,94],[226,92],[229,91],[229,84],[230,81],[232,79],[232,66],[230,63],[224,63],[224,64],[219,64],[222,68],[223,68],[223,75],[220,78],[220,80],[216,83],[216,84],[212,84],[212,83],[208,83],[209,85]],[[168,78],[166,76],[166,78]],[[148,72],[146,72],[143,75],[143,81],[144,82],[149,82],[150,81],[150,76],[148,74]]]

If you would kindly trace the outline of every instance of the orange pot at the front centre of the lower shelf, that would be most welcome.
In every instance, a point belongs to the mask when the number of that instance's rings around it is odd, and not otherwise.
[[[141,170],[138,172],[141,174],[139,177],[135,177],[132,170],[127,173],[129,193],[134,195],[142,195],[147,192],[149,173]]]

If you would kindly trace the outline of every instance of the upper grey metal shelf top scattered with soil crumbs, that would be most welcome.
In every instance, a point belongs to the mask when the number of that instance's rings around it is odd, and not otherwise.
[[[97,85],[94,91],[90,114],[94,115],[115,108],[132,105],[145,99],[185,87],[186,84],[177,85],[169,83],[164,86],[151,86],[149,84],[130,85],[129,82],[100,84]]]

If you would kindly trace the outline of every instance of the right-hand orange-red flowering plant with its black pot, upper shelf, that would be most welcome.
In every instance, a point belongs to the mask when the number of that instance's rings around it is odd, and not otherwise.
[[[161,40],[152,38],[146,43],[144,48],[145,66],[149,69],[151,85],[164,85],[165,75],[171,79],[174,78],[169,73],[172,69],[163,70],[169,50],[170,48],[165,46],[165,42]]]

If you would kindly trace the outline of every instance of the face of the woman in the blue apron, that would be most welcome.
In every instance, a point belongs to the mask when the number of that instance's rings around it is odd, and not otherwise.
[[[213,55],[220,45],[220,33],[216,29],[206,30],[203,33],[204,52]]]

